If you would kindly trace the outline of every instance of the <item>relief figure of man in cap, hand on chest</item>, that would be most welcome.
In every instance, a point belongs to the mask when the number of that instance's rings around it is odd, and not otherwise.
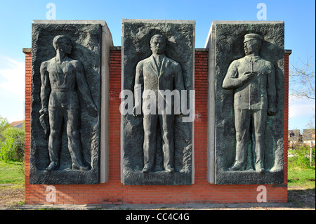
[[[234,60],[223,81],[223,88],[234,89],[236,158],[230,171],[242,171],[246,166],[249,130],[254,136],[256,171],[264,172],[265,124],[267,115],[277,112],[275,68],[272,62],[258,55],[262,37],[244,36],[246,56]]]

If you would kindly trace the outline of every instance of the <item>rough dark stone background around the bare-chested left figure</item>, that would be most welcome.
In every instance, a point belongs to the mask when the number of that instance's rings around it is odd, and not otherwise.
[[[31,184],[91,184],[100,182],[100,70],[101,70],[101,32],[100,24],[32,24],[32,105],[31,105]],[[81,104],[81,143],[86,164],[90,171],[72,171],[72,161],[67,148],[67,136],[62,136],[60,169],[51,173],[43,171],[49,164],[48,140],[39,124],[41,109],[40,88],[41,62],[55,57],[53,38],[66,35],[74,46],[70,58],[79,60],[84,65],[86,79],[91,95],[99,109],[98,117],[91,117],[84,102]],[[80,97],[79,97],[80,98]]]

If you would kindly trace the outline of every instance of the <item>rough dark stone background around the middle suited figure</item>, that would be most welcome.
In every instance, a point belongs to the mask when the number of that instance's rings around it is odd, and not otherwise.
[[[150,38],[154,34],[163,34],[166,39],[166,56],[180,63],[183,70],[185,89],[192,90],[193,63],[195,52],[195,22],[170,21],[122,21],[122,54],[123,74],[122,86],[133,91],[136,65],[140,60],[148,58]],[[189,105],[189,102],[187,103]],[[187,108],[189,108],[187,106]],[[170,173],[160,172],[162,167],[161,139],[157,138],[156,173],[143,176],[143,117],[126,114],[123,120],[123,183],[128,185],[177,185],[191,184],[192,172],[192,123],[183,123],[176,117],[175,122],[175,170]],[[180,173],[179,173],[180,172]],[[169,175],[168,177],[164,177]],[[183,176],[178,178],[178,176]]]

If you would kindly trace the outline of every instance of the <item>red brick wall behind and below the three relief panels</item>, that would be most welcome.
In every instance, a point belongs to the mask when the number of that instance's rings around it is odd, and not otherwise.
[[[207,56],[195,53],[195,183],[192,185],[122,185],[120,180],[120,122],[121,50],[113,48],[110,57],[110,152],[109,180],[98,185],[54,185],[56,202],[53,204],[146,204],[146,203],[237,203],[257,202],[258,185],[214,185],[206,179],[207,172]],[[288,55],[285,55],[285,83],[288,93]],[[29,185],[30,150],[30,85],[31,54],[25,54],[25,204],[46,202],[48,185]],[[285,100],[284,126],[284,185],[265,185],[268,202],[287,202],[287,120],[288,99]]]

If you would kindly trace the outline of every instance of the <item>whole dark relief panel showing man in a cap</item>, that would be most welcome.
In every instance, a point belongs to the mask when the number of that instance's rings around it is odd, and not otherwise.
[[[284,23],[215,21],[211,30],[209,182],[283,183]]]

